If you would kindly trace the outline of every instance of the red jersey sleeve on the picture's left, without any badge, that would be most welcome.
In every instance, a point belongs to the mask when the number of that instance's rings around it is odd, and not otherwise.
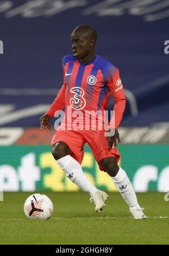
[[[63,80],[64,80],[63,86],[61,87],[60,91],[57,93],[57,96],[54,102],[46,112],[46,114],[48,114],[51,117],[54,117],[55,113],[59,112],[65,106],[66,78],[65,78],[64,67],[63,67]]]

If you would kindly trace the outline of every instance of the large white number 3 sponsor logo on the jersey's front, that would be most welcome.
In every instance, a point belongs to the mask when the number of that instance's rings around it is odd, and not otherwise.
[[[70,105],[75,110],[81,110],[86,106],[86,100],[84,100],[84,90],[81,87],[73,87],[70,92],[74,93],[73,98],[70,99]]]

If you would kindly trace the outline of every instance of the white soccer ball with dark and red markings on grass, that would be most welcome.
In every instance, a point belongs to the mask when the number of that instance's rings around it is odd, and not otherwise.
[[[46,195],[33,194],[25,201],[24,212],[29,219],[47,220],[52,216],[53,203]]]

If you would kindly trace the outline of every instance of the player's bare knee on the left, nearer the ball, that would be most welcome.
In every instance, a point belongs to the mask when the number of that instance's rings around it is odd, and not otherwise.
[[[66,143],[57,142],[52,146],[52,155],[54,156],[55,160],[58,160],[61,157],[70,155],[70,149]]]

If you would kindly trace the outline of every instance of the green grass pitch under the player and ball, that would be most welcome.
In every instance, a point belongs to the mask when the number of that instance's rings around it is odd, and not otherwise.
[[[29,220],[23,205],[30,194],[4,193],[0,244],[169,244],[169,202],[164,194],[138,193],[149,219],[134,220],[118,193],[108,193],[106,207],[96,214],[88,194],[45,191],[54,203],[53,216]]]

